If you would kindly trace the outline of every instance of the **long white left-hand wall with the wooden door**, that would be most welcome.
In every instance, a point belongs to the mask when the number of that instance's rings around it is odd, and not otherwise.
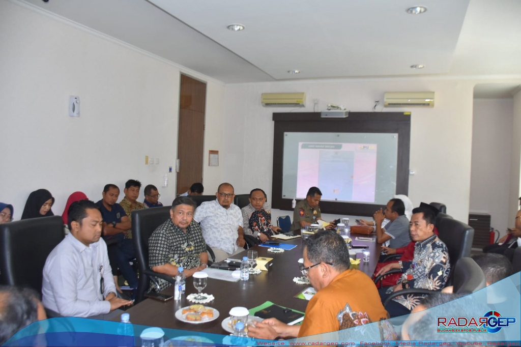
[[[7,1],[0,2],[0,47],[0,201],[14,205],[15,219],[35,189],[51,191],[61,215],[70,193],[97,201],[115,183],[122,195],[130,178],[155,184],[171,203],[175,173],[160,187],[175,166],[182,69]],[[208,81],[210,124],[222,116],[223,92]],[[80,96],[80,118],[68,117],[69,95]],[[220,134],[206,145],[221,150]],[[160,164],[144,165],[145,155]],[[205,170],[205,178],[219,170]]]

